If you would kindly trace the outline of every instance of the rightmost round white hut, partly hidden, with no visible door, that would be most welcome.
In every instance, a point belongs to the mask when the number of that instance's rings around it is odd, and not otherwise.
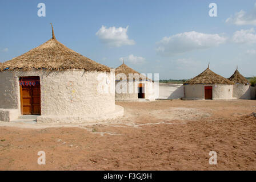
[[[239,73],[238,69],[235,70],[229,80],[235,83],[233,85],[233,97],[251,99],[249,81]]]

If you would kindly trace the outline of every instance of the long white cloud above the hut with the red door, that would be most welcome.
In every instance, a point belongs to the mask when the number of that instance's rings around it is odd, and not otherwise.
[[[178,53],[207,49],[226,42],[225,37],[218,34],[203,34],[201,32],[184,32],[164,37],[157,43],[157,52],[163,56],[173,56]]]

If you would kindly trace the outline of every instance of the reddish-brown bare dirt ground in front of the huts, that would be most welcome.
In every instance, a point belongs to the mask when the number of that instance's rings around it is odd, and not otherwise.
[[[256,170],[256,100],[116,104],[125,116],[104,122],[1,122],[0,169]]]

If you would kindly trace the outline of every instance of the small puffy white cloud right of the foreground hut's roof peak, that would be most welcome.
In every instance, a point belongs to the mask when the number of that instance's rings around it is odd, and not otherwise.
[[[102,26],[96,32],[96,35],[99,39],[109,47],[121,47],[125,45],[134,45],[134,40],[130,40],[127,35],[127,26],[126,28],[115,28],[115,27],[105,27]]]

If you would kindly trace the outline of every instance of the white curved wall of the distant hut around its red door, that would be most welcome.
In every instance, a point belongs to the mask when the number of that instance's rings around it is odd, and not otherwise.
[[[185,85],[185,98],[187,99],[205,99],[205,86],[213,86],[213,100],[232,100],[233,85],[206,84],[206,85]]]

